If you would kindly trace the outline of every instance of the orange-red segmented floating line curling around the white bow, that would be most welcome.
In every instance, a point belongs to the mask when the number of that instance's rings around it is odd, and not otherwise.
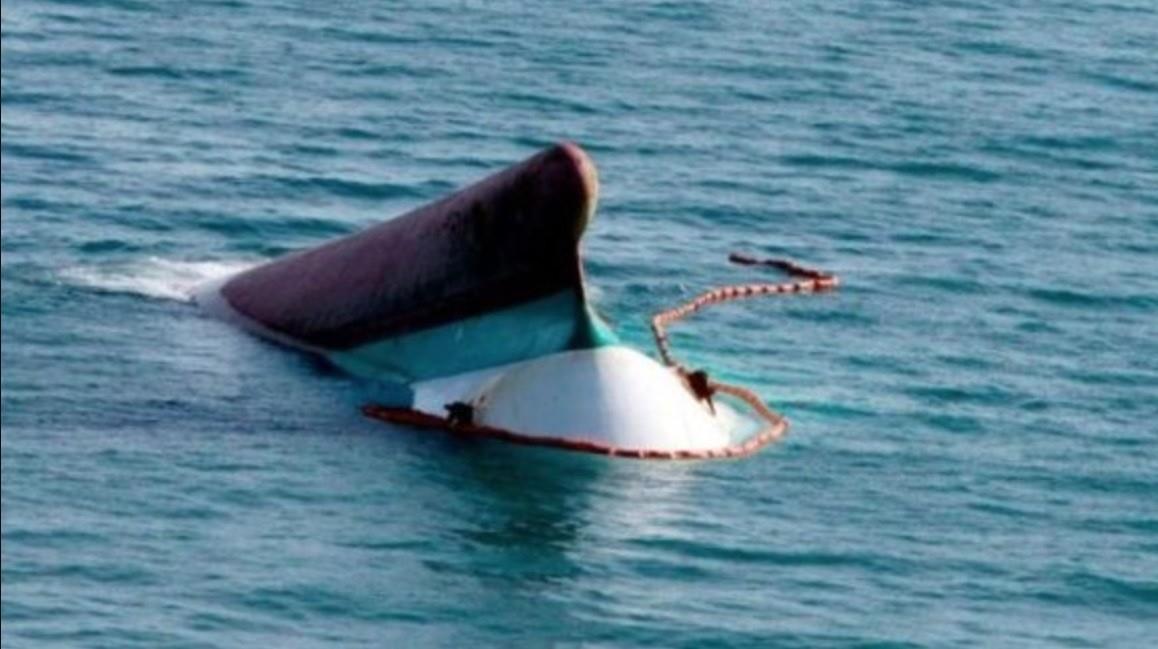
[[[712,413],[716,411],[712,396],[717,393],[724,393],[746,403],[761,420],[763,420],[764,426],[743,442],[720,449],[708,450],[666,451],[655,449],[621,449],[586,439],[542,437],[494,426],[481,425],[474,422],[472,408],[467,403],[448,403],[446,406],[447,416],[423,413],[413,408],[393,408],[375,403],[364,406],[362,413],[368,417],[394,424],[404,424],[424,429],[438,429],[468,437],[501,439],[513,444],[565,449],[569,451],[581,451],[586,453],[613,455],[618,458],[698,460],[712,458],[739,458],[755,453],[763,446],[784,437],[784,433],[787,432],[789,428],[787,420],[776,410],[769,408],[763,401],[761,401],[760,396],[750,389],[714,381],[708,375],[708,372],[703,370],[690,370],[687,365],[679,363],[672,353],[672,343],[667,336],[667,327],[710,305],[754,298],[757,296],[820,293],[836,289],[840,285],[840,279],[835,275],[798,265],[786,260],[756,260],[754,257],[733,253],[728,256],[728,261],[739,265],[763,265],[775,268],[799,279],[796,282],[783,282],[778,284],[741,284],[734,286],[720,286],[718,289],[705,291],[683,305],[655,314],[652,318],[652,334],[655,337],[655,347],[659,349],[659,355],[662,358],[664,364],[677,372],[681,379],[683,379],[684,385],[688,387],[688,391],[701,401],[705,401]]]

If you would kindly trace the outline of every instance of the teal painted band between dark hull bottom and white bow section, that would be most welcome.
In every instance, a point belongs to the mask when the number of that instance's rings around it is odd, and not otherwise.
[[[329,357],[354,374],[412,382],[617,342],[582,296],[566,291]]]

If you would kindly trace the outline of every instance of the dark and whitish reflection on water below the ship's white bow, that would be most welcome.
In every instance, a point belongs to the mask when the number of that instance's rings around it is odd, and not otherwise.
[[[591,561],[600,546],[661,525],[662,508],[648,503],[677,501],[696,480],[679,462],[453,442],[440,462],[457,518],[442,541],[457,552],[425,566],[472,582],[483,610],[526,607],[560,626],[576,624],[571,590],[607,569]]]

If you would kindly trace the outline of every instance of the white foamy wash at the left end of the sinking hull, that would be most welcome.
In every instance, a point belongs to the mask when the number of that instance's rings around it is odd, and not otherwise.
[[[120,265],[69,268],[61,272],[61,277],[71,284],[108,293],[188,301],[199,286],[245,270],[254,263],[148,257]]]

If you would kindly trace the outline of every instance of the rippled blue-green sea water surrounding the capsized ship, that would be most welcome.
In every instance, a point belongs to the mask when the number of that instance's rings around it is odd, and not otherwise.
[[[2,0],[5,649],[1153,647],[1158,5]],[[188,302],[559,139],[599,309],[792,421],[364,420]]]

